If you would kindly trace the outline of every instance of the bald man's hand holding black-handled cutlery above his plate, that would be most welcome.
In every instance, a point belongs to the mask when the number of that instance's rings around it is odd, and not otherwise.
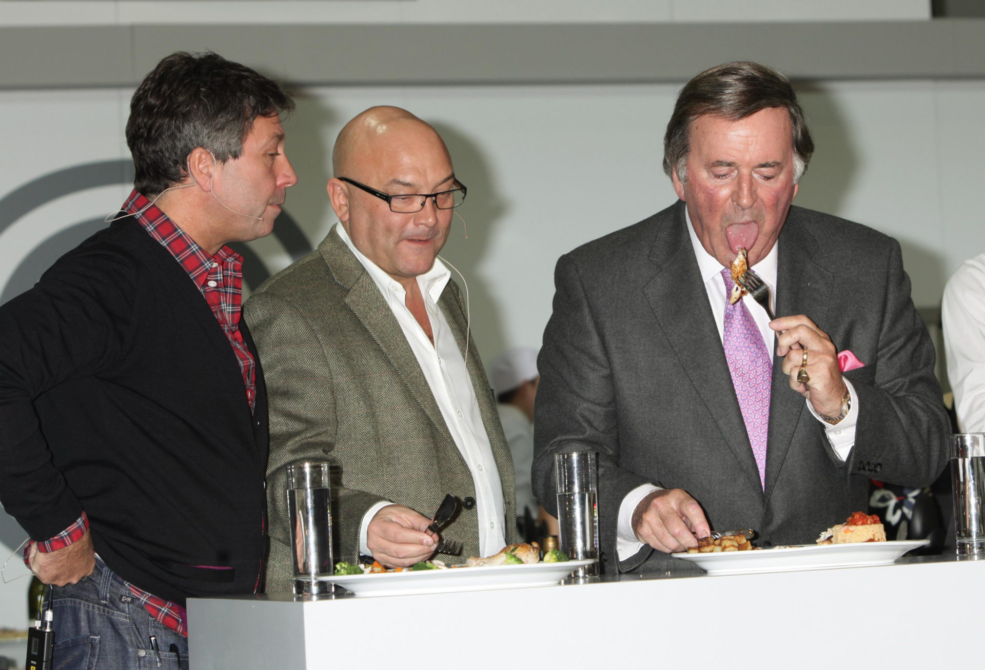
[[[427,530],[430,519],[403,505],[387,505],[366,526],[366,547],[388,568],[407,568],[426,561],[437,545]]]

